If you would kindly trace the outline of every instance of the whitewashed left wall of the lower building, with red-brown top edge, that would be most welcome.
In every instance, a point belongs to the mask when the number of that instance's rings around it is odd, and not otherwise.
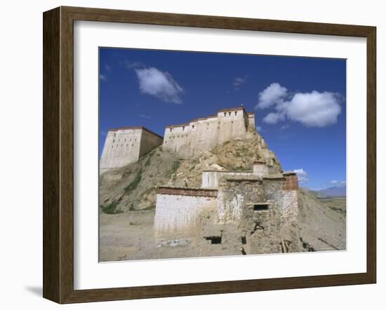
[[[215,208],[217,191],[159,188],[154,218],[156,234],[194,229],[199,213]]]

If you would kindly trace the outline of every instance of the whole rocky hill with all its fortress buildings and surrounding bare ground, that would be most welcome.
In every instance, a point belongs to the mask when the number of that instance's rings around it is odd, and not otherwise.
[[[345,249],[345,209],[299,189],[244,107],[109,130],[100,173],[104,262]]]

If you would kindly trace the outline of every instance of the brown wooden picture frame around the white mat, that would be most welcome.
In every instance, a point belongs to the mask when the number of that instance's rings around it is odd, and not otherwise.
[[[376,281],[376,28],[284,20],[59,7],[44,13],[43,296],[58,303],[356,285]],[[245,281],[74,290],[74,20],[367,39],[367,271]]]

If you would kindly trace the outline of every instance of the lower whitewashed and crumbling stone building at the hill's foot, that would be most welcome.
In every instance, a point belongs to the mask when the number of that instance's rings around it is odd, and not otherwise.
[[[154,233],[210,255],[286,252],[281,227],[297,217],[297,175],[255,161],[250,171],[204,171],[200,189],[159,187]]]

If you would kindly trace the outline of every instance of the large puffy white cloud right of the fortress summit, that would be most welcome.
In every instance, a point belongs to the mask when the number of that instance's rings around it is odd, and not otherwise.
[[[338,121],[342,112],[341,96],[337,93],[295,93],[289,95],[287,88],[279,83],[272,83],[259,93],[259,103],[256,108],[274,107],[276,112],[265,116],[265,123],[277,123],[289,119],[298,121],[306,127],[325,127]]]

